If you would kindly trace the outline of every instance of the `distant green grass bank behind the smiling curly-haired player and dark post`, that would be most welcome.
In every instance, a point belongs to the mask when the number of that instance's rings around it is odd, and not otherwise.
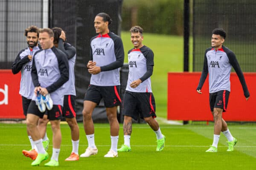
[[[152,90],[156,100],[157,116],[166,118],[167,115],[167,74],[168,72],[183,72],[183,37],[143,34],[143,44],[154,52],[154,71],[151,76]],[[127,53],[133,48],[130,32],[122,31],[121,38],[125,48],[125,62]],[[189,70],[192,70],[192,39],[190,39]]]

